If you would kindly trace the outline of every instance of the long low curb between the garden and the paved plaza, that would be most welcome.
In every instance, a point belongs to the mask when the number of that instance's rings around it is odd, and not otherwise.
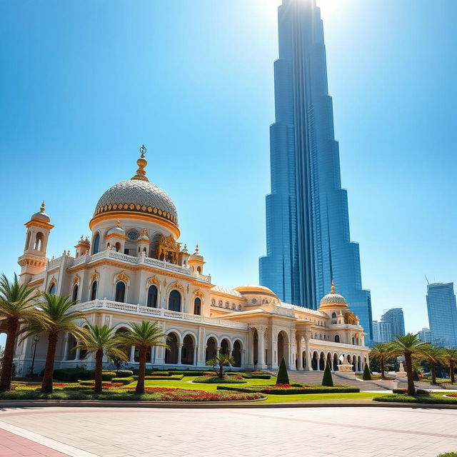
[[[360,403],[321,402],[308,403],[257,403],[242,402],[163,402],[163,401],[107,401],[107,400],[11,400],[0,401],[0,408],[36,408],[36,407],[81,407],[81,408],[182,408],[182,409],[226,409],[226,408],[420,408],[420,409],[457,409],[456,405],[438,403],[395,403],[364,401]],[[1,417],[1,415],[0,415]]]

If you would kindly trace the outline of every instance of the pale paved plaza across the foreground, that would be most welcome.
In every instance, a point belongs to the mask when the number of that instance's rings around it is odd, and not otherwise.
[[[0,456],[436,457],[457,411],[422,408],[4,408]]]

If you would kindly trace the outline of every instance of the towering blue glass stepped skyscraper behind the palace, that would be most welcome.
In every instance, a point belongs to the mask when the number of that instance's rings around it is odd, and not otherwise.
[[[369,344],[371,296],[362,289],[358,244],[349,236],[316,0],[283,0],[278,27],[271,194],[266,197],[260,282],[283,301],[317,308],[333,279],[361,319]]]

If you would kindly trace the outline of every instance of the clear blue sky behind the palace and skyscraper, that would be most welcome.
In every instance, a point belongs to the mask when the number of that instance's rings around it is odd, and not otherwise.
[[[373,316],[427,326],[457,280],[457,2],[321,0],[328,81]],[[49,256],[136,170],[174,199],[214,282],[258,282],[269,191],[276,0],[0,0],[0,271],[46,200]]]

